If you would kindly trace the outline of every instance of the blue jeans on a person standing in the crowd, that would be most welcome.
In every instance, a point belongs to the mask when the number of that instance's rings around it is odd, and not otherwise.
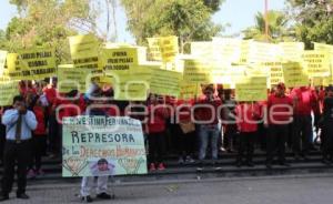
[[[219,126],[218,124],[201,124],[199,125],[199,160],[205,159],[205,152],[209,142],[211,142],[212,159],[218,160],[218,141],[219,141]]]

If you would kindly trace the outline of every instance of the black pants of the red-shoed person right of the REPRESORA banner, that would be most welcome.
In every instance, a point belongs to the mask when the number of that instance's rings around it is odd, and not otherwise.
[[[163,133],[148,135],[149,163],[162,163],[165,153],[165,136]]]

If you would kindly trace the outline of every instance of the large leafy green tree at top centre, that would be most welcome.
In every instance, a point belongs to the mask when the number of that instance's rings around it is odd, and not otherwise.
[[[174,34],[181,44],[210,40],[222,27],[211,21],[222,0],[121,0],[128,16],[128,29],[138,44],[154,35]]]

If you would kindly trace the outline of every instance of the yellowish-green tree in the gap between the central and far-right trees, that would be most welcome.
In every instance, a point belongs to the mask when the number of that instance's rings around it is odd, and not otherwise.
[[[281,11],[269,11],[269,40],[284,41],[292,38],[292,30],[287,28],[287,18]],[[250,27],[243,31],[244,39],[254,39],[258,41],[265,41],[265,16],[261,12],[258,12],[255,16],[255,26]]]

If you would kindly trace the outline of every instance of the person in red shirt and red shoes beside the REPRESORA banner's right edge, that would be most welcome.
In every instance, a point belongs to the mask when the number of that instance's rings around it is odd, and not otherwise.
[[[150,171],[164,170],[164,152],[167,129],[165,120],[169,118],[168,110],[163,104],[159,104],[157,95],[151,94],[148,102],[149,120],[147,124],[148,143],[149,143],[149,163]]]

